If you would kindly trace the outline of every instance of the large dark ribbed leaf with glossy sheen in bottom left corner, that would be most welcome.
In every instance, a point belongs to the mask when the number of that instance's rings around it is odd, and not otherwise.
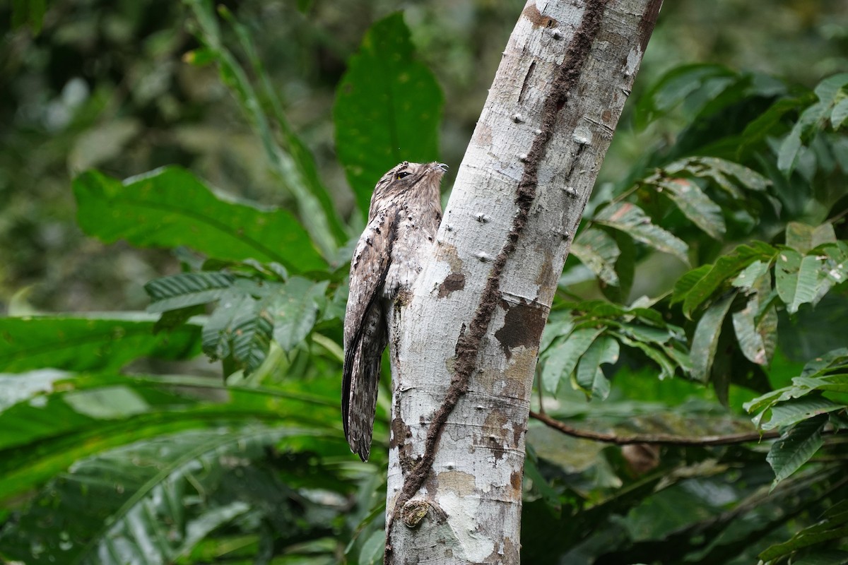
[[[275,507],[275,519],[289,529],[303,528],[295,520],[304,519],[298,516],[304,501],[292,500],[285,485],[262,480],[248,465],[281,441],[309,435],[315,434],[255,424],[215,427],[84,459],[3,531],[4,554],[33,565],[138,562],[142,556],[145,563],[175,562],[221,526],[258,518],[263,506]]]

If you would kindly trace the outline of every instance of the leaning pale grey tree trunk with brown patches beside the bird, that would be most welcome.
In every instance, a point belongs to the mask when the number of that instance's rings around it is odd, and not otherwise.
[[[661,0],[530,0],[392,314],[389,563],[517,563],[539,338]]]

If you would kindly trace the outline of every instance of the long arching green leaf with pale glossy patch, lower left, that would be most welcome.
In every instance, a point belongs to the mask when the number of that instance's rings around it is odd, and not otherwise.
[[[20,388],[9,380],[0,386]],[[0,390],[0,398],[8,396]],[[71,463],[137,440],[248,421],[310,425],[338,436],[338,402],[304,394],[223,387],[209,379],[112,374],[54,380],[0,412],[0,503],[42,484]],[[339,439],[338,452],[344,451]]]

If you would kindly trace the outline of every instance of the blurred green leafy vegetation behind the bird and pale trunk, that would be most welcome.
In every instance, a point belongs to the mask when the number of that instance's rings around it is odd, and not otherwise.
[[[0,7],[0,557],[382,555],[350,241],[382,171],[458,166],[521,8]],[[525,562],[848,562],[845,8],[663,8],[544,333]]]

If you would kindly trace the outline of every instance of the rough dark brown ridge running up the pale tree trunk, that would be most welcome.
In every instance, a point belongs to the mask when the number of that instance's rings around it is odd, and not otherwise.
[[[577,80],[579,80],[583,71],[583,64],[589,58],[592,44],[600,30],[606,3],[607,0],[587,0],[586,8],[583,10],[583,19],[575,30],[572,42],[566,50],[566,56],[556,70],[555,80],[550,85],[550,90],[545,97],[542,107],[542,124],[539,127],[540,132],[533,140],[533,146],[527,153],[527,159],[524,160],[522,180],[519,181],[516,189],[515,202],[518,210],[512,219],[512,227],[509,234],[506,235],[504,246],[492,263],[492,270],[489,272],[486,285],[483,288],[483,296],[481,296],[480,303],[471,318],[471,323],[467,330],[465,324],[463,324],[460,336],[456,341],[455,373],[451,376],[444,402],[433,414],[430,427],[427,429],[423,457],[416,464],[416,467],[410,471],[410,474],[406,475],[404,487],[395,499],[393,511],[388,518],[386,551],[383,553],[383,562],[385,563],[392,562],[391,540],[394,518],[398,515],[400,508],[421,489],[421,485],[427,480],[427,476],[432,470],[432,463],[436,459],[436,448],[444,424],[448,421],[456,403],[468,391],[468,381],[471,379],[471,374],[477,369],[477,357],[483,344],[483,338],[488,332],[488,326],[494,316],[495,308],[498,307],[500,277],[504,272],[506,259],[516,250],[516,243],[524,231],[530,207],[536,197],[539,165],[544,158],[550,138],[553,136],[557,114],[564,107],[568,93],[577,86]],[[537,22],[540,21],[538,18],[543,17],[538,14],[538,8],[533,4],[528,5],[522,14],[531,19],[533,25],[537,25]],[[536,14],[538,14],[538,18]],[[555,22],[552,18],[548,18],[548,21]]]

